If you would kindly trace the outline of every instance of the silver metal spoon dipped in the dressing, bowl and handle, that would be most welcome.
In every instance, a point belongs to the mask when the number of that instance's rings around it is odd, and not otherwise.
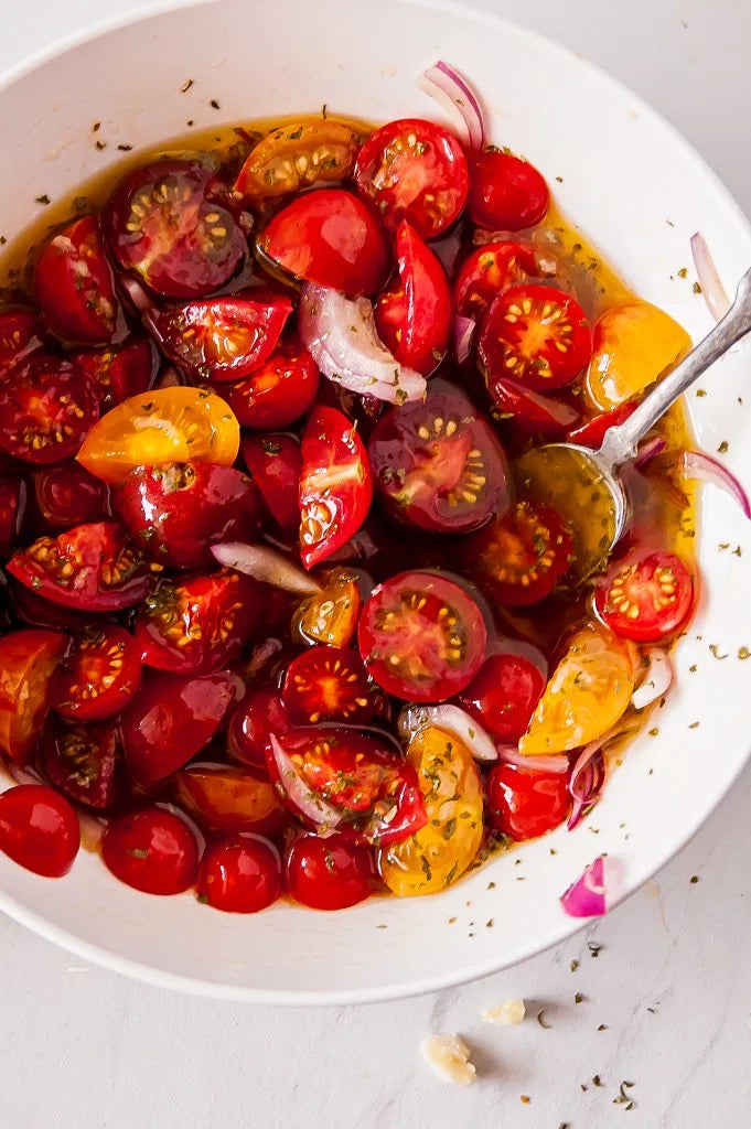
[[[516,475],[523,496],[548,502],[574,537],[571,575],[594,572],[623,533],[629,504],[618,472],[636,456],[647,431],[736,341],[751,332],[751,269],[739,282],[723,320],[673,371],[644,397],[625,423],[611,427],[600,450],[574,443],[551,443],[523,455]]]

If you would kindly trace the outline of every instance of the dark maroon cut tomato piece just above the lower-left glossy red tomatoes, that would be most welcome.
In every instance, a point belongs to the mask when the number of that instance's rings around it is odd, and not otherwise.
[[[77,804],[108,811],[120,798],[122,753],[117,727],[47,721],[41,767],[51,784]]]

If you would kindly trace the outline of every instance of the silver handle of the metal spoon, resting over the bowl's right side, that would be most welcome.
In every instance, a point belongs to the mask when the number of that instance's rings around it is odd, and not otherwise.
[[[639,441],[679,396],[749,332],[751,332],[751,269],[739,282],[735,301],[722,322],[717,323],[670,376],[661,380],[656,388],[644,397],[625,423],[608,431],[600,450],[602,462],[614,471],[629,458],[634,458]]]

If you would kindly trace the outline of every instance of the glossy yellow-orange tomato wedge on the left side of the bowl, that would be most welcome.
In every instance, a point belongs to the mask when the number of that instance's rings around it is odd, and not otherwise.
[[[107,412],[89,431],[78,461],[116,484],[136,466],[191,460],[232,466],[238,450],[239,426],[226,400],[206,388],[155,388]]]

